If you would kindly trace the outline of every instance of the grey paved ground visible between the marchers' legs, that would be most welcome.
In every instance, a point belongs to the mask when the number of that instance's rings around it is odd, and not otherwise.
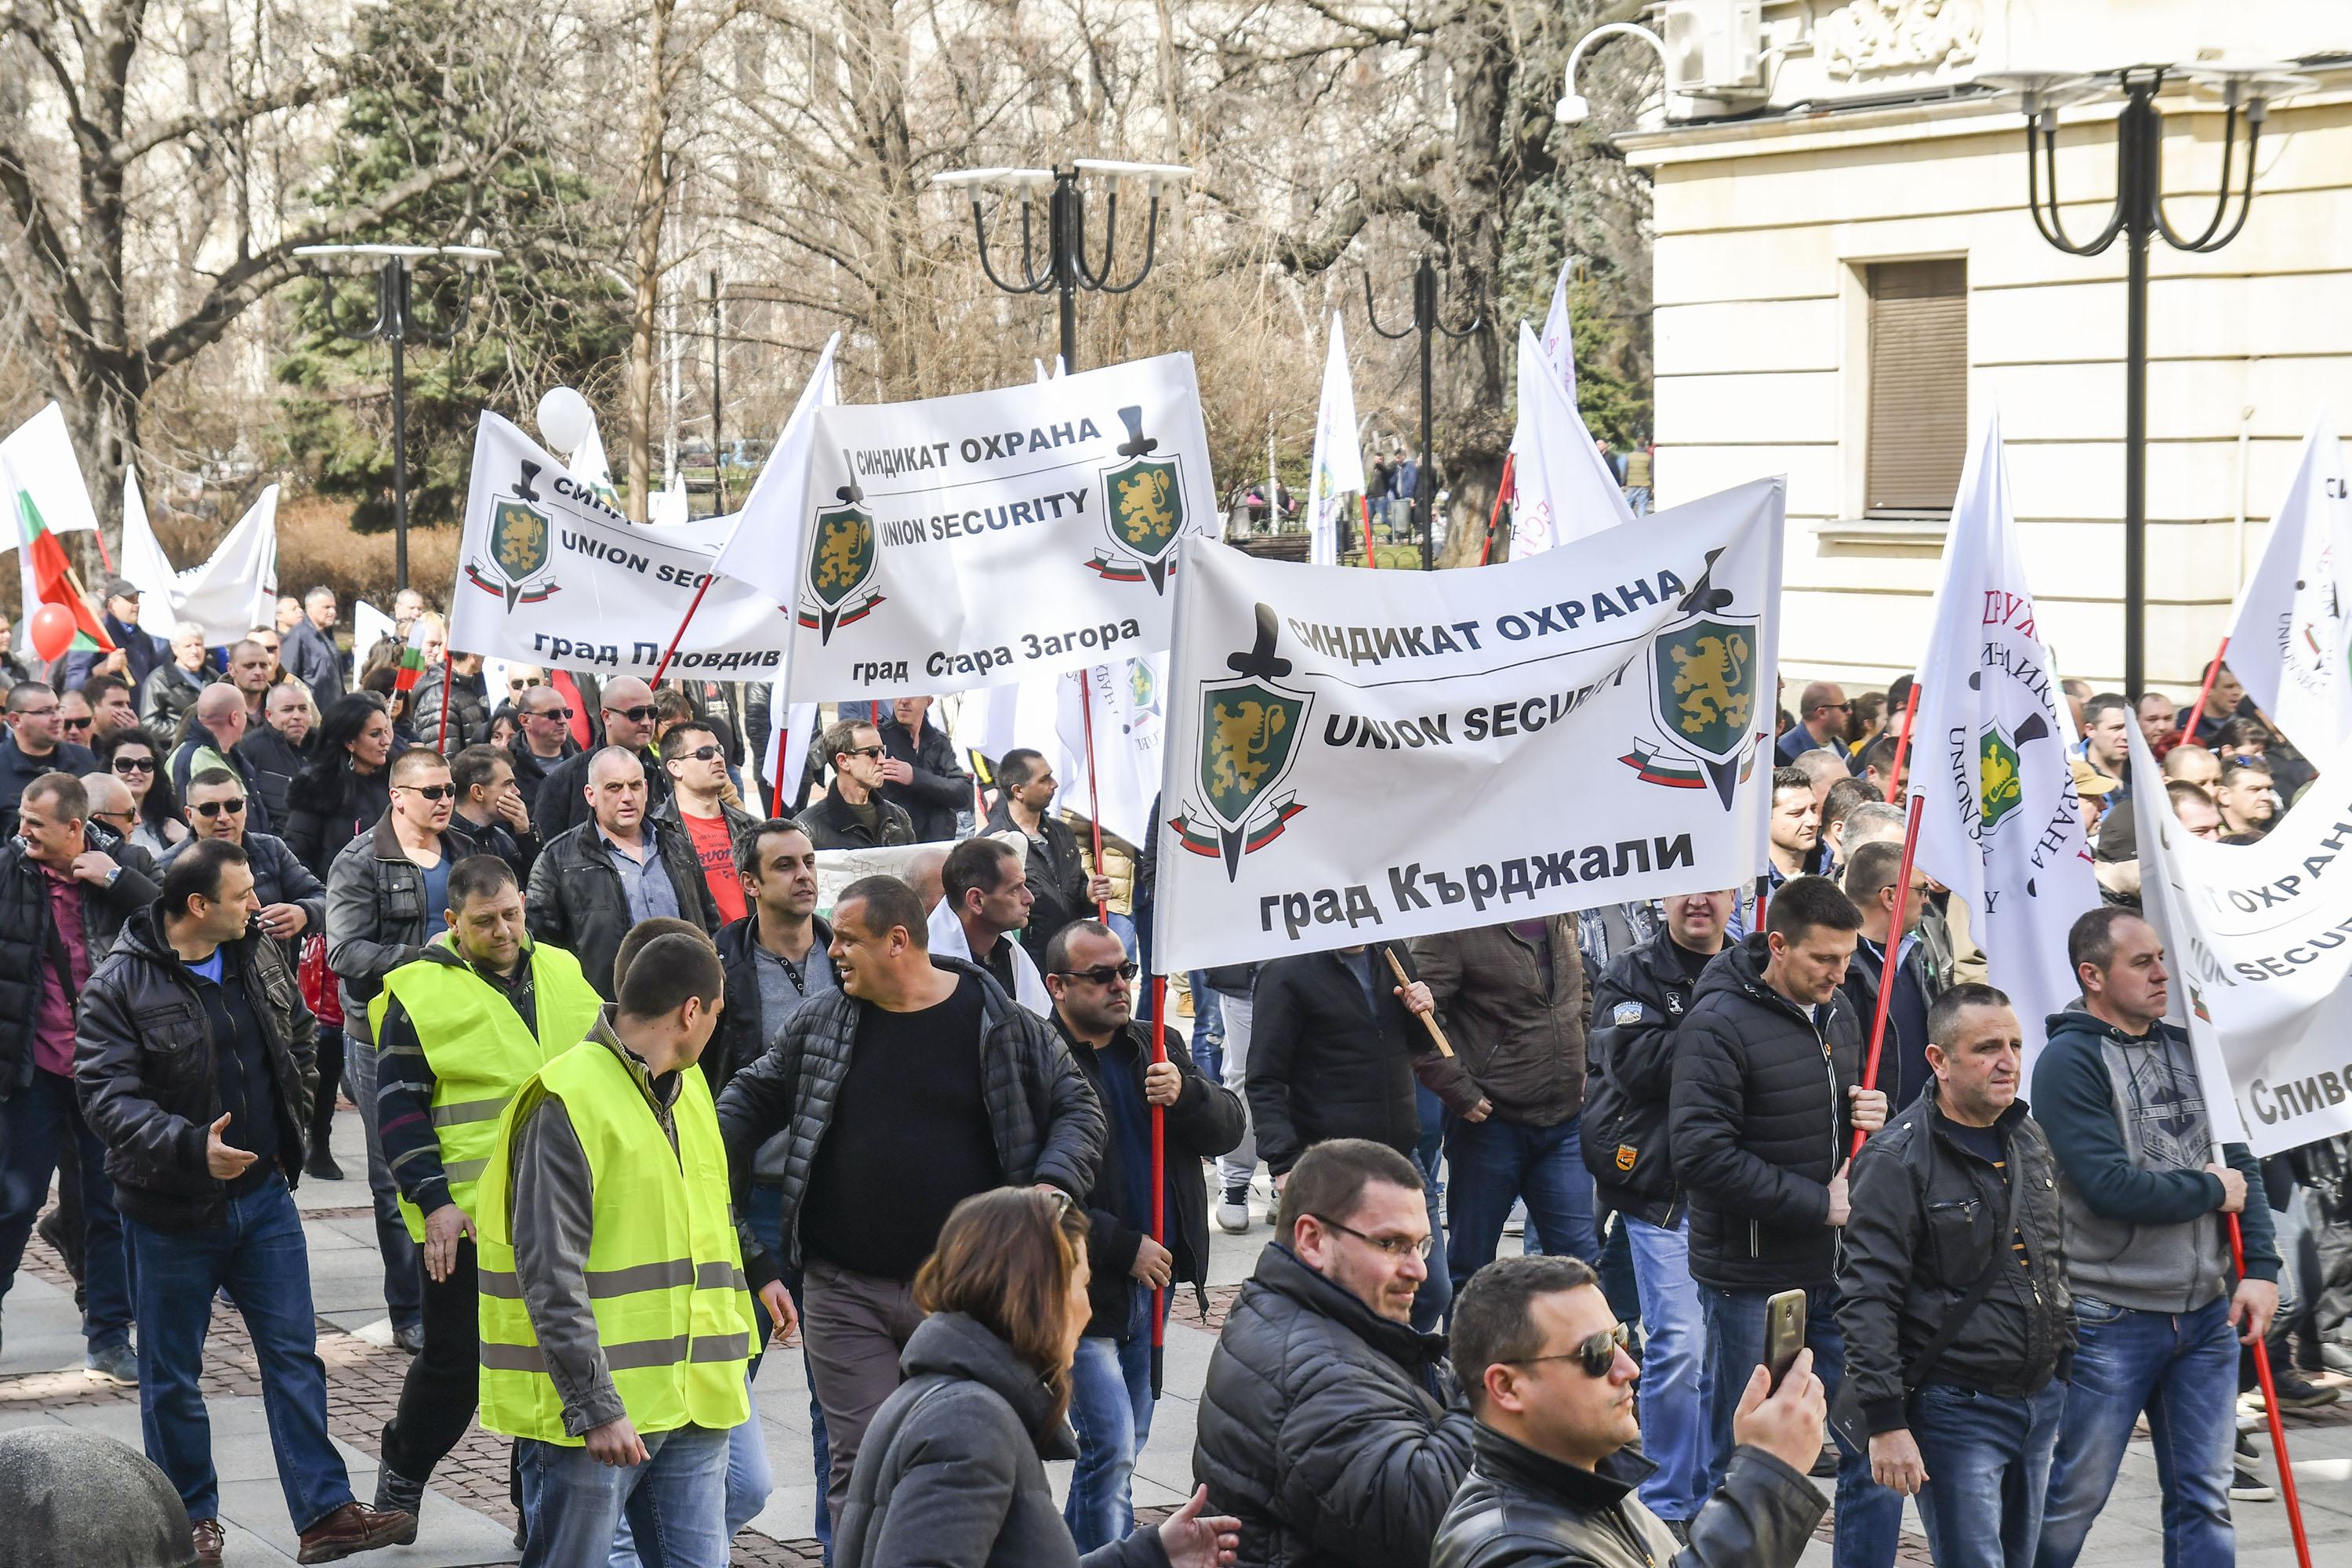
[[[353,1110],[336,1117],[334,1145],[343,1168],[360,1171],[360,1124]],[[374,1495],[376,1439],[400,1396],[407,1359],[390,1349],[383,1316],[383,1267],[362,1180],[303,1182],[296,1192],[310,1241],[310,1281],[320,1319],[320,1359],[327,1363],[329,1420],[353,1490]],[[1270,1232],[1261,1218],[1247,1237],[1211,1232],[1209,1312],[1178,1295],[1167,1331],[1164,1394],[1152,1436],[1136,1467],[1136,1507],[1176,1507],[1192,1490],[1192,1420],[1200,1389],[1235,1288],[1249,1276]],[[1505,1241],[1505,1251],[1512,1244]],[[5,1302],[7,1338],[0,1354],[0,1429],[59,1422],[103,1432],[139,1446],[136,1389],[106,1389],[82,1378],[80,1319],[73,1286],[56,1255],[38,1239]],[[212,1446],[221,1472],[221,1514],[228,1521],[233,1568],[280,1568],[294,1561],[294,1528],[278,1488],[261,1385],[252,1347],[235,1312],[214,1309],[205,1389],[212,1401]],[[760,1368],[757,1415],[767,1434],[776,1490],[753,1526],[736,1537],[736,1563],[816,1563],[816,1476],[809,1469],[809,1392],[800,1354],[771,1354]],[[2303,1481],[2303,1512],[2314,1563],[2352,1561],[2352,1389],[2347,1403],[2291,1418],[2288,1441]],[[2267,1434],[2258,1443],[2270,1448]],[[1068,1465],[1049,1467],[1056,1488]],[[2274,1474],[2265,1460],[2265,1474]],[[2286,1512],[2277,1502],[2237,1505],[2239,1563],[2286,1568],[2296,1561]],[[383,1568],[477,1568],[513,1563],[513,1509],[506,1495],[506,1441],[480,1427],[435,1472],[419,1544],[369,1554]],[[1917,1521],[1907,1521],[1905,1563],[1926,1563]],[[2124,1474],[2091,1547],[2089,1568],[2147,1568],[2164,1561],[2154,1455],[2131,1446]],[[1828,1568],[1828,1528],[1806,1556]]]

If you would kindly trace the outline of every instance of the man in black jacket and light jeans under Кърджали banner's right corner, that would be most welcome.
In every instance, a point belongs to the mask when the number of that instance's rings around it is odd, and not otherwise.
[[[1675,1032],[1698,976],[1724,950],[1738,893],[1677,893],[1649,943],[1592,985],[1583,1147],[1595,1194],[1616,1208],[1642,1300],[1642,1502],[1686,1526],[1708,1500],[1708,1328],[1691,1279],[1691,1206],[1665,1150]]]

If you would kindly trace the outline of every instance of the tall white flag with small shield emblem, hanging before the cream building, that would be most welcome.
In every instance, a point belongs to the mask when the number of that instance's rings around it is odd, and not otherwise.
[[[2082,992],[2065,933],[2098,903],[2063,712],[2025,585],[1994,414],[1952,501],[1910,776],[1922,811],[1919,867],[1973,912],[1992,983],[2009,992],[2025,1030],[2027,1072],[2049,1016]]]

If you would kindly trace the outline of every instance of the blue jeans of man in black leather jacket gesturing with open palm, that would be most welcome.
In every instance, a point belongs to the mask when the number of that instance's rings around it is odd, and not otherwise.
[[[139,1288],[139,1432],[148,1458],[172,1476],[188,1519],[221,1516],[205,1415],[205,1333],[212,1293],[228,1286],[261,1363],[261,1408],[278,1455],[287,1516],[308,1530],[350,1502],[343,1455],[327,1436],[327,1368],[310,1312],[310,1251],[285,1178],[228,1201],[219,1229],[127,1225]]]

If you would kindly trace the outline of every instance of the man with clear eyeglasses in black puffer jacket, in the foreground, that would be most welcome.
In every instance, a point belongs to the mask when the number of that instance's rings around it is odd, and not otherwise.
[[[1432,1244],[1397,1150],[1334,1138],[1291,1166],[1192,1429],[1192,1479],[1242,1521],[1237,1561],[1428,1566],[1472,1441],[1446,1342],[1411,1326]]]

